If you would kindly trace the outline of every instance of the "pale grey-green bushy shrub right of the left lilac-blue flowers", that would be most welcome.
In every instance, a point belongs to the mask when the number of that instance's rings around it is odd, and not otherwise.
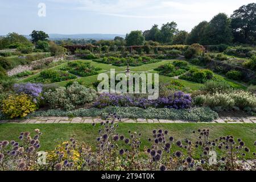
[[[76,106],[92,102],[96,99],[94,89],[85,88],[78,82],[73,82],[68,88],[60,87],[55,91],[48,90],[44,93],[44,98],[51,108],[61,108],[72,110]]]

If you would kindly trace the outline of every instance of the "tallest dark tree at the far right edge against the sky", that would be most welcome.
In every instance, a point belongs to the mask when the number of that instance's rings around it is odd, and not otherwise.
[[[256,44],[256,3],[241,6],[231,15],[234,41]]]

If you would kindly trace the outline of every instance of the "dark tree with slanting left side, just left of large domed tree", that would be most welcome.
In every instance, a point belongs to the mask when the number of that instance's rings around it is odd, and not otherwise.
[[[188,35],[187,43],[189,45],[194,44],[194,43],[202,44],[204,31],[207,28],[207,26],[208,26],[207,21],[203,21],[203,22],[200,22],[199,24],[197,24],[197,26],[195,26],[191,30],[190,34]]]

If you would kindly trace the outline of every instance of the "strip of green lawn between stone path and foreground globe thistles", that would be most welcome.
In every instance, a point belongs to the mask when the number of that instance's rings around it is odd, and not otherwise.
[[[29,131],[34,133],[34,129],[40,129],[43,133],[40,138],[42,150],[53,150],[56,144],[67,141],[70,137],[75,137],[79,141],[84,141],[91,146],[95,146],[96,138],[98,137],[98,130],[100,124],[93,127],[90,124],[1,124],[0,125],[0,140],[18,140],[19,133],[22,131]],[[171,123],[171,124],[150,124],[150,123],[119,123],[117,133],[128,137],[128,131],[136,131],[142,133],[143,148],[149,147],[150,142],[148,138],[152,137],[152,130],[163,129],[168,130],[169,135],[175,139],[188,138],[195,142],[197,135],[192,131],[197,129],[209,129],[210,139],[213,140],[218,137],[226,135],[233,135],[234,138],[241,138],[251,152],[255,151],[254,141],[256,140],[256,125],[255,124],[210,124],[210,123]],[[121,143],[120,143],[121,144]],[[121,144],[122,145],[122,144]],[[178,150],[178,148],[173,148]],[[252,157],[253,155],[247,155]]]

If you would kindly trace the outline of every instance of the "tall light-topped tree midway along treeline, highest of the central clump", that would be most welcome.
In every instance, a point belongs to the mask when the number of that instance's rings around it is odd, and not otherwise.
[[[159,42],[162,43],[172,43],[174,41],[174,35],[177,33],[177,23],[171,22],[163,24],[161,27],[161,34],[157,34]]]

